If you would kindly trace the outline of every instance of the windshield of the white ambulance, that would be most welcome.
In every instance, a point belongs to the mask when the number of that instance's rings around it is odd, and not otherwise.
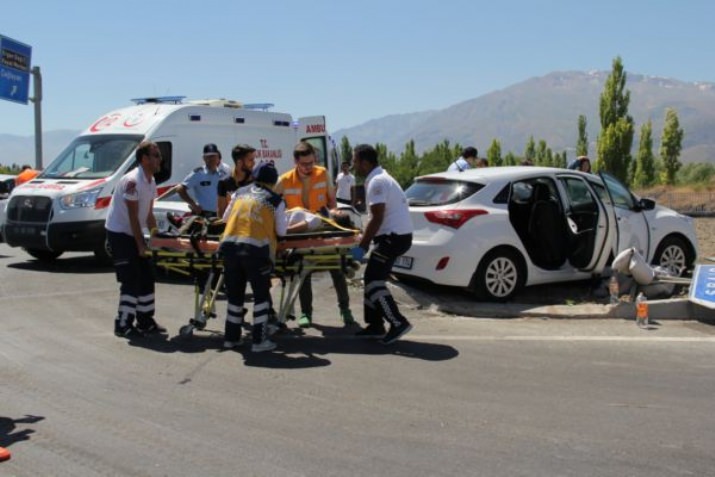
[[[99,135],[76,138],[39,178],[101,179],[124,164],[143,139],[136,135]]]

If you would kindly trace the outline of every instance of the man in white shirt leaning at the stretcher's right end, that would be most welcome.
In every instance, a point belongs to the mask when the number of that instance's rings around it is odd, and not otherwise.
[[[365,177],[365,202],[368,207],[367,225],[360,244],[352,249],[353,258],[362,260],[370,243],[375,244],[363,275],[367,327],[357,335],[382,338],[382,344],[392,344],[412,329],[387,288],[388,275],[395,259],[412,246],[412,221],[407,197],[400,184],[380,167],[374,147],[360,144],[353,149],[353,169]],[[390,324],[387,333],[384,320]]]

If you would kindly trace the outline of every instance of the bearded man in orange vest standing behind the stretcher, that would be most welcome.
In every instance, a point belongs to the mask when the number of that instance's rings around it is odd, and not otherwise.
[[[302,207],[310,212],[322,212],[335,207],[335,189],[328,171],[316,165],[318,153],[308,142],[301,141],[293,149],[295,168],[278,179],[276,192],[283,194],[287,209]],[[350,295],[345,275],[341,270],[330,270],[333,286],[338,295],[340,317],[345,326],[355,324],[350,312]],[[308,275],[299,293],[301,316],[298,326],[308,328],[313,320],[313,287]]]

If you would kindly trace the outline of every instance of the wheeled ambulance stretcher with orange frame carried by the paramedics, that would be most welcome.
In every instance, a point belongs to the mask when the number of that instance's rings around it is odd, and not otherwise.
[[[348,278],[355,276],[360,263],[352,259],[350,249],[359,243],[358,233],[321,230],[279,239],[274,275],[280,279],[281,293],[272,321],[284,326],[292,317],[300,288],[311,273],[341,270]],[[148,248],[156,267],[194,279],[194,314],[179,334],[191,336],[194,330],[203,330],[208,319],[216,317],[216,297],[224,282],[219,237],[159,234],[149,238]],[[200,286],[202,275],[206,280]]]

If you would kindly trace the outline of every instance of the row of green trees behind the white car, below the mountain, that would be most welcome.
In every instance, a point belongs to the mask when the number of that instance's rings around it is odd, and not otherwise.
[[[640,141],[633,157],[636,126],[628,113],[630,91],[625,87],[626,78],[623,62],[616,57],[599,98],[601,130],[596,139],[596,156],[589,155],[587,118],[584,115],[579,115],[577,120],[576,156],[591,157],[594,171],[606,171],[624,184],[638,189],[655,185],[709,183],[715,176],[715,166],[706,163],[683,166],[680,162],[685,133],[673,108],[665,112],[658,154],[653,150],[653,123],[648,119],[640,127]],[[446,139],[421,154],[416,152],[414,140],[405,144],[405,149],[399,154],[388,150],[382,143],[375,144],[375,147],[380,164],[405,188],[417,176],[446,170],[463,148],[459,143],[451,144]],[[341,157],[352,157],[352,146],[347,137],[342,138],[339,148]],[[493,139],[484,157],[489,166],[496,167],[518,165],[525,161],[537,166],[567,167],[568,161],[566,151],[554,152],[546,141],[537,141],[533,136],[527,140],[521,155],[511,151],[503,154],[500,141]]]

